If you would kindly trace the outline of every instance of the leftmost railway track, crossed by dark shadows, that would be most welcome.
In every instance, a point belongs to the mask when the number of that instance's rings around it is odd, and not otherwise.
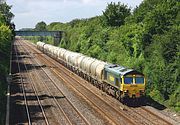
[[[27,76],[27,67],[26,65],[23,63],[23,61],[21,60],[22,57],[24,56],[23,55],[23,52],[19,51],[18,50],[18,44],[15,43],[14,45],[14,49],[15,49],[15,58],[17,60],[17,67],[18,67],[18,72],[19,72],[19,76],[20,76],[20,83],[21,83],[21,90],[22,90],[22,93],[23,93],[23,97],[24,97],[24,105],[25,105],[25,108],[26,108],[26,116],[27,116],[27,121],[28,121],[28,124],[31,125],[33,124],[33,112],[34,112],[34,108],[31,107],[31,105],[36,105],[36,110],[41,110],[41,113],[42,114],[39,114],[40,117],[43,117],[43,121],[42,122],[43,124],[46,124],[46,125],[49,125],[49,122],[47,120],[47,117],[44,113],[44,109],[43,109],[43,106],[40,102],[40,99],[39,99],[39,96],[37,94],[37,91],[35,89],[35,87],[33,86],[33,84],[31,84],[33,81],[32,79],[27,79],[28,76]],[[19,51],[19,52],[18,52]],[[22,73],[22,72],[26,72],[26,73]],[[31,85],[31,88],[33,89],[33,92],[32,93],[29,93],[29,91],[32,91],[32,90],[28,90],[27,89],[27,84]],[[37,99],[36,102],[33,101],[33,102],[30,102],[29,100],[29,97],[30,96],[35,96],[35,98]],[[38,108],[38,109],[37,109]]]

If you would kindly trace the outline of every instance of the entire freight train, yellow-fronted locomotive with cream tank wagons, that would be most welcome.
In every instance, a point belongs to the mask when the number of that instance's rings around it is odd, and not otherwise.
[[[145,77],[134,69],[109,64],[64,48],[37,42],[37,48],[118,100],[145,94]]]

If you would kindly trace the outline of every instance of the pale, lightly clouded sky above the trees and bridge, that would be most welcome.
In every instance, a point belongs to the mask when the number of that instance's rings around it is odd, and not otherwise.
[[[143,0],[6,0],[12,5],[16,29],[34,28],[40,21],[65,23],[102,15],[107,3],[118,1],[135,8]]]

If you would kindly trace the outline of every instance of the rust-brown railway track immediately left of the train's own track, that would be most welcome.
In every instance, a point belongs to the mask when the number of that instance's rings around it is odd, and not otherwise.
[[[38,52],[36,51],[35,53]],[[132,119],[128,118],[128,116],[126,116],[120,111],[117,111],[110,104],[104,102],[104,100],[95,95],[91,90],[84,87],[84,85],[81,84],[81,81],[77,81],[76,78],[72,77],[72,73],[69,73],[69,71],[67,71],[67,69],[59,63],[56,64],[54,61],[49,61],[49,59],[47,58],[42,58],[42,61],[46,62],[45,65],[49,65],[51,67],[58,67],[59,69],[61,69],[60,71],[56,70],[58,68],[51,68],[54,74],[59,76],[59,78],[64,83],[71,85],[71,87],[74,88],[77,93],[79,93],[87,101],[89,101],[91,105],[93,105],[96,110],[98,110],[102,115],[106,116],[106,118],[111,121],[112,124],[137,124],[137,122],[135,123],[134,121],[132,121]]]

